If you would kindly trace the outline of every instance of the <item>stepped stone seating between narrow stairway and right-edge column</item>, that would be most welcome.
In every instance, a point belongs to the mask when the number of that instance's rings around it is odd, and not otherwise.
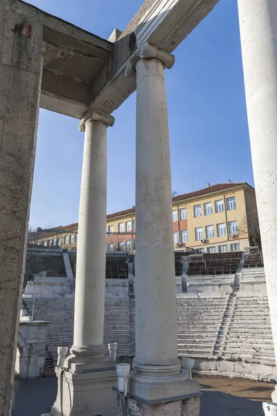
[[[274,345],[267,297],[238,293],[226,329],[222,358],[275,365]]]

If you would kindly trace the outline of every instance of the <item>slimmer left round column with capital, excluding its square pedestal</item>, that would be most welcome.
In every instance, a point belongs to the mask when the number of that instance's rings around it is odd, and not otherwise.
[[[80,122],[84,157],[80,193],[71,363],[106,360],[103,345],[107,220],[107,127],[110,115],[89,112]],[[80,367],[78,365],[78,367]]]

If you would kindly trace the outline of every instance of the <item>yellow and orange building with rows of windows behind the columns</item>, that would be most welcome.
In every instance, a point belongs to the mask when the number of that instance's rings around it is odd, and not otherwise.
[[[256,216],[255,190],[246,182],[216,184],[172,198],[175,250],[227,252],[253,245],[249,218]],[[78,223],[42,230],[37,241],[46,246],[75,248]],[[136,209],[107,215],[107,251],[134,252]],[[31,243],[31,241],[30,241]]]

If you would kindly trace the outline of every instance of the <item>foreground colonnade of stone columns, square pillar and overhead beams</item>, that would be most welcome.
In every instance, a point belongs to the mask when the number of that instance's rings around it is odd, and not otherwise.
[[[49,411],[53,416],[116,414],[116,363],[104,345],[106,140],[107,128],[114,124],[111,113],[136,89],[136,356],[129,375],[128,414],[199,415],[199,383],[190,379],[178,358],[164,70],[173,67],[172,52],[217,1],[146,0],[125,31],[115,30],[109,40],[24,1],[1,1],[0,229],[8,236],[1,244],[1,414],[10,415],[12,403],[39,106],[80,119],[84,132],[73,345],[66,368],[56,369],[59,389]],[[277,10],[269,0],[238,0],[238,10],[277,356]],[[157,207],[154,214],[151,206]],[[68,286],[60,284],[65,298]],[[225,302],[233,302],[238,311],[243,303],[230,295],[215,301],[221,311],[227,311]],[[21,348],[26,353],[26,345]]]

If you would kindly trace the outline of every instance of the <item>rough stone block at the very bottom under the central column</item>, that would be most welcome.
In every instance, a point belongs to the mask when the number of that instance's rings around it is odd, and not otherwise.
[[[199,416],[200,397],[150,405],[128,398],[126,407],[128,416]],[[121,408],[117,416],[122,416]]]

